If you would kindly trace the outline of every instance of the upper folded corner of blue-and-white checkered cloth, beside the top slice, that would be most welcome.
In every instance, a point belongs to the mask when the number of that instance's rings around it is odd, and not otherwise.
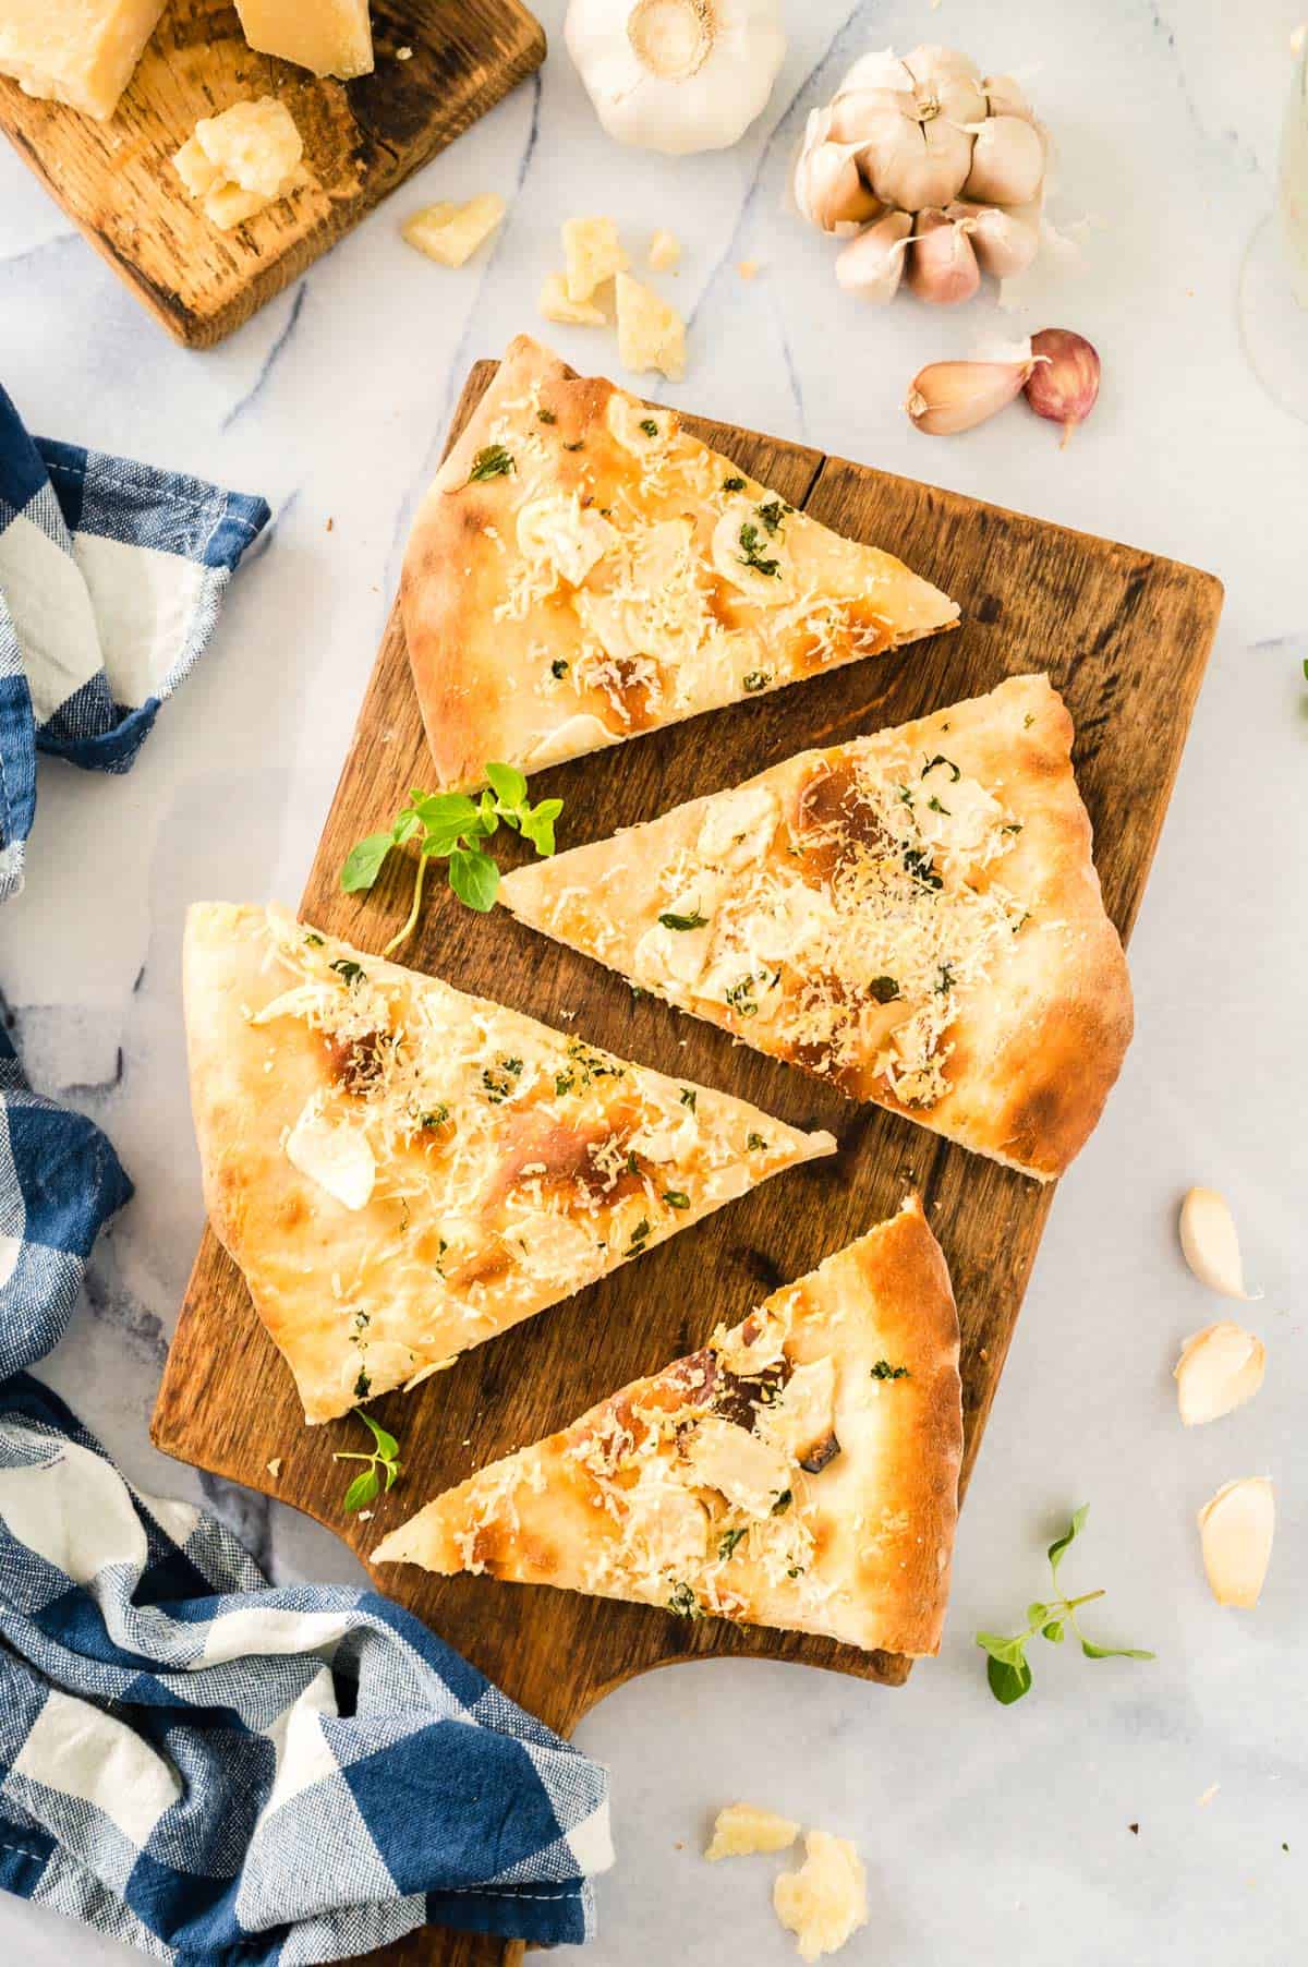
[[[0,901],[35,753],[126,771],[212,633],[262,498],[30,437],[0,389]]]

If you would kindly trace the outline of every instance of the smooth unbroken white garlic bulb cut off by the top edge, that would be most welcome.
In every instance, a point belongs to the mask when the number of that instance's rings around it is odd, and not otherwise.
[[[779,0],[568,0],[563,33],[608,134],[669,155],[736,144],[785,59]]]

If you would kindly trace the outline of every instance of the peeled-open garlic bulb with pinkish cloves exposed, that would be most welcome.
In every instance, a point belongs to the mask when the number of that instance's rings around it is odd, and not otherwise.
[[[846,291],[887,301],[903,277],[919,299],[954,305],[981,273],[1009,279],[1035,260],[1044,165],[1044,132],[1011,75],[981,77],[952,47],[883,49],[810,112],[795,203],[818,230],[856,234],[836,262]]]

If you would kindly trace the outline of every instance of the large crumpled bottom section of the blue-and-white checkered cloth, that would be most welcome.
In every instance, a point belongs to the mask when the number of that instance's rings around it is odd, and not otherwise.
[[[0,1387],[0,1886],[157,1959],[592,1930],[608,1780],[376,1591],[269,1589]]]

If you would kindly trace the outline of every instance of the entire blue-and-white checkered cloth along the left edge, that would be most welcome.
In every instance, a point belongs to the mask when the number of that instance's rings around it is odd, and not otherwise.
[[[0,901],[35,751],[126,771],[266,519],[33,443],[0,391]],[[586,1939],[606,1772],[378,1593],[269,1589],[28,1379],[130,1194],[0,1025],[0,1888],[183,1967],[344,1959],[429,1922]]]

